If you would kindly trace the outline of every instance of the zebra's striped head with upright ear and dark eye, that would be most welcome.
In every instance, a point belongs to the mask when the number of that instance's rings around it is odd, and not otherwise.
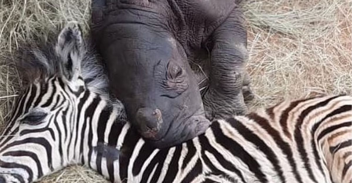
[[[80,27],[71,22],[50,52],[34,49],[34,59],[23,61],[30,82],[0,136],[0,183],[32,182],[75,162],[70,130],[86,92],[83,45]]]

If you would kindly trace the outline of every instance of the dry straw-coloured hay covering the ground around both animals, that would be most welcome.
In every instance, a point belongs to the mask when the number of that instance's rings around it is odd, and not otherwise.
[[[1,0],[0,122],[21,88],[11,66],[20,42],[56,33],[68,20],[88,31],[90,0]],[[247,0],[248,71],[256,99],[252,109],[284,98],[351,94],[351,1]],[[19,71],[20,72],[20,71]],[[2,123],[0,123],[2,124]],[[71,166],[43,182],[106,182],[94,171]]]

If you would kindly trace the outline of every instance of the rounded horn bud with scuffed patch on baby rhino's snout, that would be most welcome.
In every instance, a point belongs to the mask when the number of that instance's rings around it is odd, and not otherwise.
[[[140,134],[153,140],[161,129],[163,117],[159,109],[141,107],[137,110],[136,121]]]

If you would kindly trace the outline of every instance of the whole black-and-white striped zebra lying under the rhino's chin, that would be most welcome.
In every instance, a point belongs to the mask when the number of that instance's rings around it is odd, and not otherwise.
[[[112,182],[351,183],[351,96],[285,101],[155,149],[108,99],[84,48],[70,23],[48,52],[55,56],[33,52],[42,73],[0,137],[0,183],[33,182],[75,163]]]

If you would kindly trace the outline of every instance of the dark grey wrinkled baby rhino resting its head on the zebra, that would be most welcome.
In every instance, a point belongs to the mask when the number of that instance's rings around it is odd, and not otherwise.
[[[251,90],[244,78],[247,35],[238,3],[93,0],[92,37],[111,92],[156,147],[203,133],[208,119],[245,113]],[[200,87],[206,88],[203,99]]]

